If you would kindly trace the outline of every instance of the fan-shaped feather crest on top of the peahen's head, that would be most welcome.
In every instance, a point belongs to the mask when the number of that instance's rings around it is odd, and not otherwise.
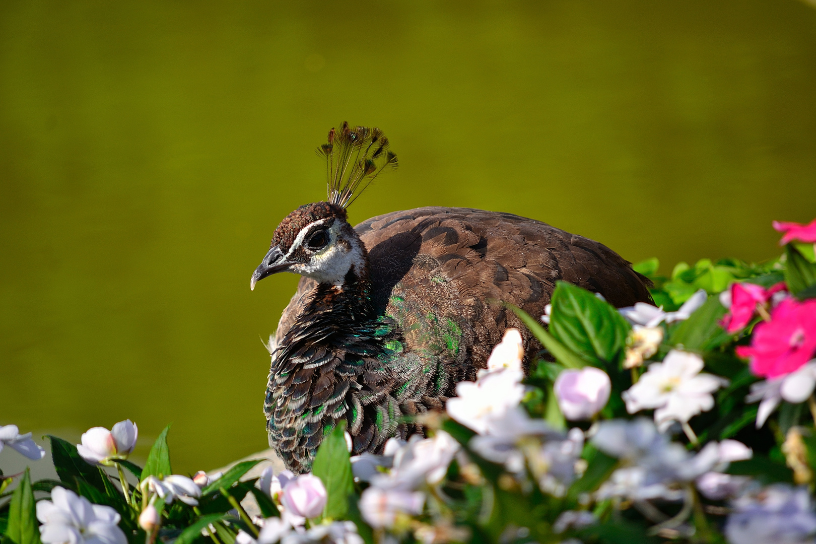
[[[397,167],[388,138],[376,126],[348,126],[329,130],[329,141],[317,148],[326,157],[328,201],[347,208],[386,166]],[[361,187],[362,186],[362,187]]]

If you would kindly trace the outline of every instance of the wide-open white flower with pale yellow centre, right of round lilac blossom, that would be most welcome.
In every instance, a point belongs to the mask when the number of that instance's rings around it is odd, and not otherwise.
[[[661,431],[672,421],[688,422],[714,406],[712,392],[728,384],[725,378],[699,374],[703,359],[694,353],[672,350],[662,363],[652,363],[638,382],[623,391],[629,414],[655,409]]]

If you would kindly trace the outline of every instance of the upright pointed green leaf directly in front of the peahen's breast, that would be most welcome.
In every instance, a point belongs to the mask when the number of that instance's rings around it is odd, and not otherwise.
[[[348,496],[354,492],[352,463],[349,461],[344,432],[346,422],[339,420],[329,436],[323,439],[312,463],[312,474],[326,486],[328,498],[323,516],[341,518],[348,512]]]

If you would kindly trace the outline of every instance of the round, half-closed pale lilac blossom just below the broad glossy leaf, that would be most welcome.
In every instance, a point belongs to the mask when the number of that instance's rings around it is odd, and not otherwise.
[[[612,383],[603,370],[585,366],[558,374],[553,391],[565,418],[570,421],[592,419],[610,400]]]

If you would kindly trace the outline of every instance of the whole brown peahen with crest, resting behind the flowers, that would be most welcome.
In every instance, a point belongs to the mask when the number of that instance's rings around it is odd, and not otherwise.
[[[251,281],[304,276],[270,343],[264,403],[269,444],[293,471],[308,471],[341,418],[354,454],[421,432],[404,416],[443,409],[508,327],[521,329],[529,363],[541,346],[503,303],[540,316],[558,280],[618,307],[651,301],[605,245],[518,215],[429,206],[353,228],[346,206],[396,156],[379,130],[347,124],[318,152],[329,200],[278,225]]]

